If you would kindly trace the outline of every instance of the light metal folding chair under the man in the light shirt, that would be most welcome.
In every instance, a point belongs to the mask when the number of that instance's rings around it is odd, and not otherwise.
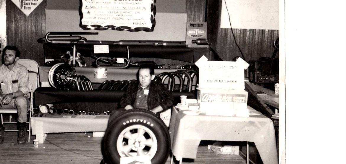
[[[29,119],[26,123],[29,124],[29,131],[28,133],[28,142],[30,142],[30,136],[31,136],[31,116],[33,114],[33,95],[34,91],[36,88],[39,86],[39,81],[38,81],[38,64],[34,60],[29,60],[29,59],[19,59],[17,61],[19,64],[25,66],[28,70],[28,76],[29,76],[29,101],[30,101],[30,106],[29,106]],[[16,121],[11,121],[12,115],[10,115],[9,121],[3,121],[3,116],[2,113],[17,113],[17,109],[1,109],[0,114],[1,114],[1,124],[3,123],[17,123]],[[18,130],[5,130],[5,131],[18,131]]]

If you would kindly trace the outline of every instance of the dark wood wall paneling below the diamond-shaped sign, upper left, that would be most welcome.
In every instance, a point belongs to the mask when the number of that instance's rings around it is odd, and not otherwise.
[[[43,46],[36,40],[45,35],[46,0],[43,0],[29,16],[26,16],[11,0],[6,0],[7,45],[17,46],[20,58],[44,64]]]

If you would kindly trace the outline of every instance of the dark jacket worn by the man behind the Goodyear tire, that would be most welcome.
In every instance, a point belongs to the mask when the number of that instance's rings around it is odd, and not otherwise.
[[[136,100],[139,81],[130,83],[127,87],[125,94],[121,97],[120,107],[125,108],[127,105],[133,106]],[[151,110],[157,106],[161,106],[163,111],[173,105],[172,93],[158,81],[151,81],[149,86],[149,93],[147,97],[148,110]]]

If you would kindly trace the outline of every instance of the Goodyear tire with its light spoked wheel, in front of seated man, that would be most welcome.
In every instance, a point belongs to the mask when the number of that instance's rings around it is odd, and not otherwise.
[[[120,157],[149,156],[152,164],[165,163],[171,139],[164,122],[154,113],[127,110],[110,120],[103,138],[103,156],[107,164],[120,163]]]

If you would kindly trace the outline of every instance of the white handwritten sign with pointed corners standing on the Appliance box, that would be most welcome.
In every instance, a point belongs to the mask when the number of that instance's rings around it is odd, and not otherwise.
[[[199,67],[199,88],[238,89],[245,88],[243,61],[206,61],[201,57],[195,63]]]

